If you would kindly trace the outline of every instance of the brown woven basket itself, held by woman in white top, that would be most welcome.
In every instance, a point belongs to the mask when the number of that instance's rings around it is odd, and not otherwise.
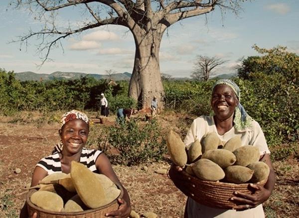
[[[234,196],[233,193],[236,191],[252,194],[248,189],[249,183],[234,184],[204,181],[189,175],[185,171],[177,171],[174,165],[170,167],[168,177],[186,196],[211,208],[232,209],[236,204],[229,201],[229,199]],[[267,180],[263,180],[258,184],[264,186],[266,182]]]

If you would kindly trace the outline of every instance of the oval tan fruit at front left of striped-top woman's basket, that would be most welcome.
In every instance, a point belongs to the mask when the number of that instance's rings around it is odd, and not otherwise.
[[[53,192],[48,192],[48,191],[34,192],[30,197],[30,201],[37,207],[49,211],[60,212],[63,209],[62,198]]]

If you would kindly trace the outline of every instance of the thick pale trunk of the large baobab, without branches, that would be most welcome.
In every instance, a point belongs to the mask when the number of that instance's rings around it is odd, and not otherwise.
[[[136,52],[129,96],[138,100],[142,109],[150,107],[153,96],[156,96],[159,108],[163,109],[165,94],[159,66],[159,35],[153,32],[135,35]]]

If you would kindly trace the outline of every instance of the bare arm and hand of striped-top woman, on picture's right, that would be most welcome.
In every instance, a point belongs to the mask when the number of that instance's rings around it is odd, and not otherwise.
[[[109,177],[115,184],[121,186],[124,190],[124,195],[122,199],[118,199],[118,202],[121,204],[117,211],[112,211],[107,213],[106,217],[116,217],[116,218],[128,218],[131,213],[131,203],[130,197],[125,189],[125,187],[119,181],[117,175],[115,174],[114,170],[112,169],[111,163],[108,157],[101,153],[96,160],[96,167],[100,171],[100,173]]]

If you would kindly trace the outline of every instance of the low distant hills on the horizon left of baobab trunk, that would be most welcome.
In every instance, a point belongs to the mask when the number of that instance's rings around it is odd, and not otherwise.
[[[34,81],[45,81],[45,80],[53,80],[53,79],[67,79],[67,80],[74,80],[74,79],[80,79],[80,77],[93,77],[96,80],[100,79],[109,79],[109,75],[101,75],[101,74],[86,74],[86,73],[80,73],[80,72],[60,72],[56,71],[51,74],[37,74],[31,71],[26,72],[19,72],[15,73],[15,78],[20,81],[27,81],[27,80],[34,80]],[[117,73],[111,75],[111,79],[115,81],[119,80],[130,80],[132,74],[128,72],[124,73]]]

